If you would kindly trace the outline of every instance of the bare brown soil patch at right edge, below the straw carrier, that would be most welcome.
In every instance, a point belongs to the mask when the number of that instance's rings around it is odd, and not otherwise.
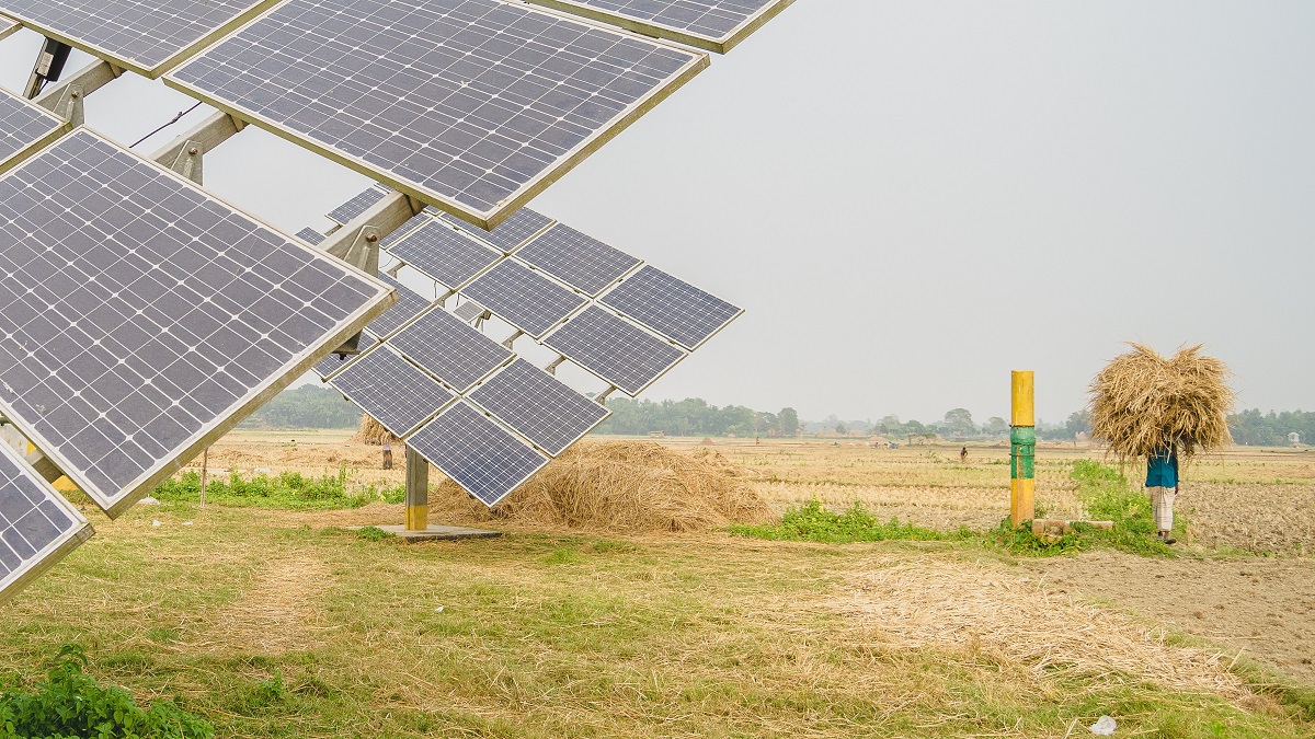
[[[1055,593],[1111,601],[1315,685],[1315,560],[1102,551],[1020,567]]]

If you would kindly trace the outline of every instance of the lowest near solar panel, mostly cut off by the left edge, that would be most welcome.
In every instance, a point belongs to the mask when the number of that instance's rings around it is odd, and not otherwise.
[[[91,535],[91,523],[0,442],[0,601]]]

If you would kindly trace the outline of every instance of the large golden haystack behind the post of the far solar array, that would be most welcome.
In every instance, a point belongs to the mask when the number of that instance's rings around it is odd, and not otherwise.
[[[654,442],[581,442],[493,509],[444,480],[430,509],[473,521],[600,531],[702,531],[775,514],[742,471],[710,450]]]

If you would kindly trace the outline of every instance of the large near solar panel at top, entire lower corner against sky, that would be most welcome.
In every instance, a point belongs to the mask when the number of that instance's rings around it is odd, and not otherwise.
[[[517,3],[288,0],[167,82],[489,227],[706,66]]]

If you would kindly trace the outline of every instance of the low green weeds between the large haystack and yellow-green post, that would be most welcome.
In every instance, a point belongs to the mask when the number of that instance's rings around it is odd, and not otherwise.
[[[861,501],[856,501],[844,513],[835,513],[822,506],[822,501],[811,500],[800,508],[790,509],[780,523],[748,525],[736,523],[731,534],[785,542],[884,542],[889,539],[914,539],[919,542],[963,540],[977,536],[967,527],[945,533],[924,529],[913,523],[899,523],[892,518],[881,522],[872,515]]]

